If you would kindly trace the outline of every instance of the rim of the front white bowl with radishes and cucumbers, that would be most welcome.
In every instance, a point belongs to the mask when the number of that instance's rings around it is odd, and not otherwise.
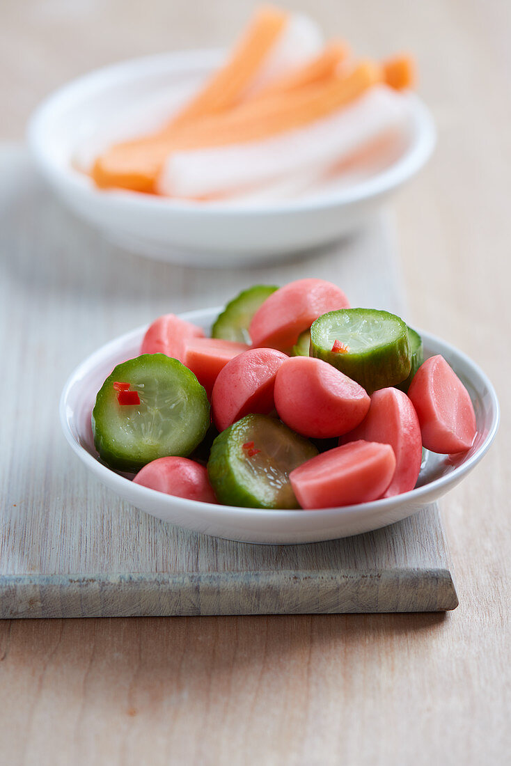
[[[222,307],[215,307],[215,308],[209,308],[209,309],[195,309],[192,311],[187,311],[179,314],[179,317],[182,319],[185,319],[188,322],[194,322],[200,319],[201,321],[204,321],[206,317],[209,316],[216,316],[216,314],[221,311]],[[61,421],[61,427],[64,431],[64,436],[66,437],[66,440],[68,444],[70,444],[70,447],[74,450],[74,453],[77,454],[78,457],[80,457],[80,460],[82,460],[85,465],[93,471],[93,473],[96,473],[96,475],[100,478],[100,480],[103,481],[104,484],[108,486],[116,485],[117,489],[119,490],[119,493],[126,497],[126,491],[128,491],[129,488],[129,496],[131,502],[134,502],[135,504],[138,502],[138,500],[142,500],[144,497],[157,499],[159,504],[164,504],[165,506],[172,507],[175,505],[176,502],[179,502],[179,505],[181,505],[183,508],[188,509],[201,509],[203,512],[211,512],[214,510],[215,512],[221,512],[224,516],[232,516],[233,518],[235,516],[239,516],[240,514],[244,517],[247,521],[254,522],[261,522],[261,509],[257,508],[246,508],[244,506],[224,506],[220,503],[208,503],[208,502],[201,502],[198,500],[190,500],[186,498],[181,497],[175,497],[172,495],[167,495],[165,493],[158,492],[156,489],[149,489],[148,487],[135,484],[132,480],[129,480],[126,478],[126,476],[120,475],[120,473],[116,473],[116,471],[113,471],[112,469],[108,468],[107,466],[103,465],[103,463],[100,463],[97,458],[93,457],[86,449],[83,447],[79,442],[75,439],[73,432],[70,427],[70,420],[67,417],[67,399],[69,397],[70,391],[75,385],[75,383],[82,377],[84,377],[84,374],[88,371],[90,371],[91,368],[93,368],[94,365],[97,365],[100,358],[105,358],[109,355],[109,353],[113,353],[114,350],[121,344],[125,342],[129,342],[130,339],[134,339],[137,336],[141,336],[142,332],[145,332],[145,330],[148,328],[149,324],[145,324],[142,326],[137,327],[136,329],[133,329],[129,332],[123,333],[122,336],[117,336],[116,339],[111,340],[110,342],[107,342],[106,344],[100,346],[99,349],[97,349],[95,352],[90,354],[87,358],[83,360],[83,362],[80,362],[80,365],[78,365],[74,372],[72,372],[67,378],[67,381],[64,385],[64,388],[61,393],[60,403],[59,403],[59,414],[60,414],[60,421]],[[395,508],[401,508],[402,506],[410,505],[411,508],[417,508],[421,505],[421,498],[424,496],[427,496],[431,493],[434,493],[435,491],[440,491],[444,488],[449,487],[449,485],[455,485],[457,484],[467,473],[470,473],[470,470],[477,465],[477,463],[482,460],[486,452],[490,449],[490,445],[492,444],[496,432],[499,428],[500,424],[500,404],[499,400],[496,395],[495,388],[493,387],[493,384],[491,383],[490,379],[487,377],[486,373],[483,372],[483,370],[479,367],[479,365],[476,364],[476,362],[473,362],[473,360],[464,352],[457,349],[455,346],[450,345],[447,341],[444,341],[437,336],[431,335],[429,332],[425,332],[424,330],[417,329],[417,332],[421,335],[423,342],[425,345],[428,345],[428,343],[432,343],[434,345],[437,345],[441,350],[437,353],[441,352],[447,352],[447,354],[455,355],[457,358],[460,359],[461,362],[464,363],[464,365],[467,366],[467,368],[470,369],[471,375],[475,378],[480,378],[480,381],[483,383],[483,385],[486,387],[486,390],[490,394],[490,401],[492,404],[492,411],[493,411],[493,418],[492,422],[490,424],[490,427],[488,429],[488,432],[486,434],[486,437],[484,438],[482,444],[480,444],[480,447],[477,448],[477,450],[471,455],[468,460],[466,460],[464,463],[462,463],[460,466],[456,466],[453,471],[450,473],[447,473],[444,476],[440,476],[437,479],[434,479],[430,483],[424,484],[423,486],[417,487],[415,489],[411,489],[409,492],[401,493],[400,495],[388,497],[388,498],[382,498],[378,500],[373,500],[371,502],[363,502],[359,503],[357,505],[352,506],[338,506],[338,507],[332,507],[332,508],[322,508],[322,509],[264,509],[264,520],[271,522],[277,521],[277,520],[283,520],[283,519],[289,519],[290,523],[292,523],[293,519],[300,518],[302,521],[305,521],[306,519],[317,519],[318,522],[326,522],[329,519],[336,519],[339,520],[341,517],[343,519],[352,519],[354,516],[362,514],[362,512],[370,513],[371,515],[378,516],[380,512],[384,512],[385,509],[389,509],[391,506]],[[447,492],[447,489],[444,489],[445,492]],[[126,490],[126,491],[125,491]],[[431,500],[427,501],[424,500],[424,503],[422,505],[426,505],[428,502],[432,502]]]

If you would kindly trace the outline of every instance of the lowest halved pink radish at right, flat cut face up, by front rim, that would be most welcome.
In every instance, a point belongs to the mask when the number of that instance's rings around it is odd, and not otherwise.
[[[351,441],[302,463],[290,483],[302,508],[336,508],[382,497],[394,471],[390,444]]]

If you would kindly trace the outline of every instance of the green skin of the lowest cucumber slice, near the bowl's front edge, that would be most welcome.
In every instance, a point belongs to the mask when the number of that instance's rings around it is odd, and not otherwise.
[[[267,418],[268,420],[273,420],[273,418],[270,418],[268,415],[245,415],[240,421],[237,421],[237,423],[234,423],[223,430],[221,434],[216,437],[211,446],[211,453],[208,460],[208,477],[218,502],[224,506],[272,510],[277,508],[274,502],[265,502],[263,499],[257,498],[245,489],[244,486],[241,486],[237,478],[237,473],[233,467],[237,461],[237,455],[235,453],[240,447],[241,440],[244,440],[244,437],[241,436],[241,434],[245,431],[247,419],[254,417],[257,417],[257,419]],[[237,431],[240,432],[240,437],[237,437]],[[230,439],[231,435],[234,436],[232,440]],[[296,434],[296,438],[303,440],[304,444],[307,443],[307,440],[300,437],[298,434]],[[313,444],[310,444],[310,457],[315,457],[317,454],[318,450],[316,450],[316,447],[314,447]],[[306,458],[306,460],[309,459],[310,458]],[[296,505],[286,506],[286,509],[299,508],[300,505],[298,501],[296,501]]]

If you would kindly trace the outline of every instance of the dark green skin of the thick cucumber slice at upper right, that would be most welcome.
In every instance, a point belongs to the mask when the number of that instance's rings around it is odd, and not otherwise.
[[[338,309],[340,311],[352,311],[354,309]],[[372,309],[367,309],[372,310]],[[375,309],[376,310],[376,309]],[[375,348],[370,355],[365,354],[339,354],[330,350],[322,349],[319,343],[316,342],[314,335],[315,332],[319,332],[321,319],[331,314],[336,314],[337,311],[330,311],[316,319],[313,322],[313,326],[310,328],[310,355],[319,359],[323,359],[323,362],[328,362],[332,367],[336,367],[348,378],[359,383],[362,388],[371,396],[379,388],[388,388],[401,383],[408,378],[411,370],[411,352],[410,343],[408,341],[408,328],[403,320],[395,314],[390,314],[388,311],[382,311],[378,313],[385,313],[389,316],[395,316],[399,319],[403,326],[403,332],[398,339],[398,354],[393,360],[393,364],[388,364],[388,346],[382,346],[381,348]],[[365,358],[367,357],[367,358]],[[407,371],[403,376],[403,368]]]

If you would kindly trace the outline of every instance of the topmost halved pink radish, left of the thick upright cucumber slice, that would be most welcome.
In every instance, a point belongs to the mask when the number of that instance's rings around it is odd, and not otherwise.
[[[254,314],[249,328],[252,347],[286,351],[318,316],[336,309],[349,309],[338,286],[317,279],[290,282],[272,293]]]

